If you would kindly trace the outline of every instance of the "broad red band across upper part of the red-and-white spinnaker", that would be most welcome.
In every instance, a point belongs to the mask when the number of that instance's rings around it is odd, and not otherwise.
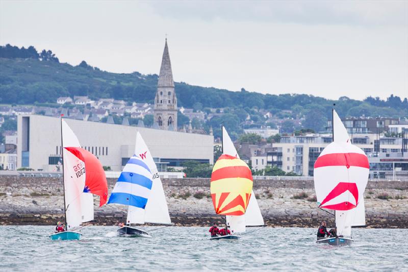
[[[315,168],[324,166],[357,166],[370,168],[368,158],[360,153],[333,153],[326,154],[317,158]]]

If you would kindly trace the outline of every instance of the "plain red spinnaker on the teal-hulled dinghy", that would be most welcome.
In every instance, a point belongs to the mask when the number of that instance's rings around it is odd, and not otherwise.
[[[85,187],[88,187],[89,192],[99,195],[99,207],[106,204],[108,182],[102,164],[92,153],[81,147],[65,147],[65,149],[85,163]]]

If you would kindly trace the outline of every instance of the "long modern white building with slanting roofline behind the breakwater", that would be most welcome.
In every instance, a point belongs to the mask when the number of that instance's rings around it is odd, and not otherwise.
[[[82,147],[103,166],[120,171],[134,155],[136,132],[139,131],[157,162],[180,167],[184,161],[213,163],[211,135],[140,128],[108,123],[66,119]],[[42,115],[21,115],[17,119],[17,168],[43,171],[60,170],[60,119]],[[160,169],[159,169],[160,171]]]

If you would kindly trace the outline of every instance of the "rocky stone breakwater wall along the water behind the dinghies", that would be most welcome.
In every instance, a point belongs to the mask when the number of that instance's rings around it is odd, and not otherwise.
[[[116,180],[108,179],[109,191]],[[180,226],[222,222],[215,215],[209,179],[163,179],[172,221]],[[272,227],[333,226],[333,216],[317,208],[313,181],[255,180],[254,193],[265,223]],[[96,197],[95,197],[96,199]],[[112,225],[125,220],[123,207],[97,207],[95,221]],[[371,228],[406,228],[408,182],[369,181],[365,191],[366,219]],[[0,176],[0,224],[53,225],[63,218],[61,178]]]

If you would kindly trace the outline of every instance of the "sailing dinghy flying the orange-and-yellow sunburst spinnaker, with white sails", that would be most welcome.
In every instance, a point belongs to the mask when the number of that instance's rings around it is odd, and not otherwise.
[[[234,143],[222,127],[222,155],[214,164],[211,175],[211,197],[215,212],[225,215],[232,233],[244,233],[246,227],[265,226],[257,199],[252,190],[252,173],[239,158]],[[238,235],[210,239],[239,239]]]

